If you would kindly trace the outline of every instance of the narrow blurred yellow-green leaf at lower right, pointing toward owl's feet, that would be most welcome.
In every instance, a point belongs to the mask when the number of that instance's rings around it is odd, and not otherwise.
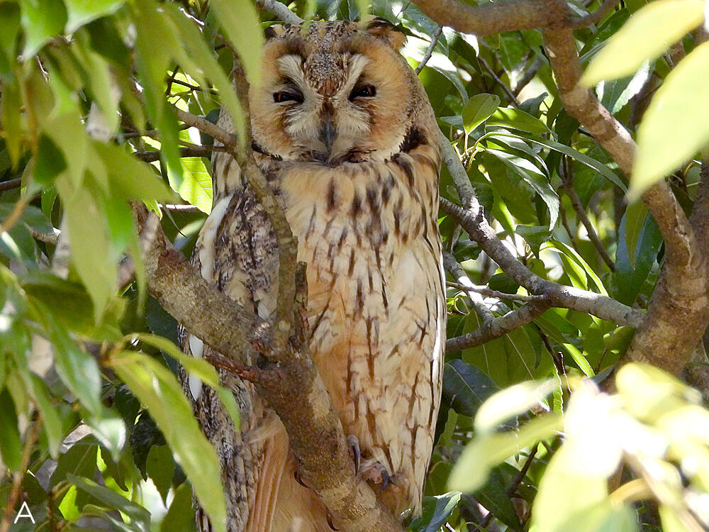
[[[448,480],[450,489],[474,492],[482,487],[491,469],[539,440],[562,429],[562,416],[547,414],[525,424],[519,431],[476,436],[460,455]]]

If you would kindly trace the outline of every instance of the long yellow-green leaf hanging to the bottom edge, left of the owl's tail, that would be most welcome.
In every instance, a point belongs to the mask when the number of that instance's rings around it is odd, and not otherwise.
[[[213,528],[225,532],[226,509],[219,459],[206,440],[182,388],[166,367],[140,353],[121,353],[111,358],[116,375],[147,406],[194,487]]]

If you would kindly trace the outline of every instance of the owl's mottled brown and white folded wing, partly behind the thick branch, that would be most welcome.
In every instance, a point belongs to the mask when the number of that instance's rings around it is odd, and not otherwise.
[[[220,291],[268,318],[275,306],[278,267],[269,221],[250,187],[240,184],[240,170],[232,157],[216,154],[213,176],[213,209],[201,230],[193,263]],[[223,186],[226,183],[228,187]],[[189,332],[182,333],[181,343],[186,353],[196,357],[208,355],[211,349]],[[252,384],[225,372],[220,377],[240,407],[238,431],[213,390],[190,375],[183,376],[183,385],[220,459],[227,530],[269,531],[288,458],[288,439],[281,421],[264,406]],[[197,524],[201,532],[211,531],[201,509]]]

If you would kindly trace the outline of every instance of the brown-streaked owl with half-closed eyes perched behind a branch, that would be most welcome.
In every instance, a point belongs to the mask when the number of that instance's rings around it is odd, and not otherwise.
[[[257,164],[306,262],[309,347],[358,475],[395,515],[418,514],[440,402],[445,334],[437,228],[439,132],[423,87],[381,19],[272,27],[250,89]],[[227,113],[219,121],[234,131]],[[193,256],[208,282],[268,319],[278,255],[235,160],[213,159],[213,209]],[[189,332],[183,347],[205,356]],[[299,480],[281,421],[248,382],[222,374],[235,430],[213,392],[183,376],[221,461],[230,532],[336,528]],[[198,528],[210,530],[198,509]]]

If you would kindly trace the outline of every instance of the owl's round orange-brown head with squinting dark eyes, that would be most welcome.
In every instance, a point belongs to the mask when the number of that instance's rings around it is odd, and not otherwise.
[[[250,92],[255,143],[283,160],[385,160],[420,100],[391,24],[313,21],[267,31],[262,83]]]

